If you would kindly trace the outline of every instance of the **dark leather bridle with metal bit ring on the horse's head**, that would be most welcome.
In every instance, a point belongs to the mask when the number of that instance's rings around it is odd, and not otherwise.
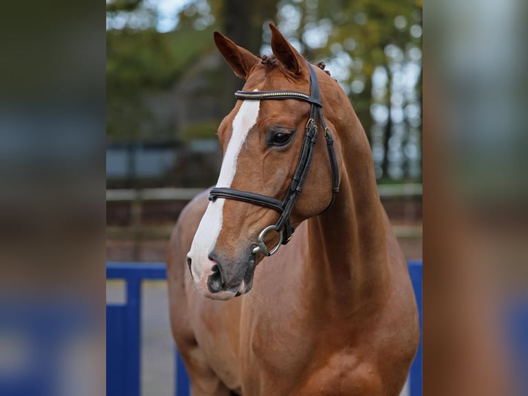
[[[252,250],[252,253],[262,253],[265,256],[271,256],[281,244],[287,244],[293,237],[294,228],[290,223],[290,215],[294,208],[299,195],[303,191],[303,184],[308,174],[309,166],[312,164],[312,157],[314,156],[314,145],[317,141],[318,134],[318,121],[321,121],[321,126],[325,130],[325,138],[328,149],[328,156],[330,160],[330,168],[332,168],[332,201],[327,206],[329,208],[334,203],[336,193],[339,191],[339,170],[336,161],[336,153],[334,150],[334,139],[332,134],[325,124],[323,119],[323,103],[319,97],[319,84],[317,77],[314,72],[314,68],[309,63],[310,72],[310,95],[306,95],[303,92],[297,91],[236,91],[234,96],[236,99],[241,100],[283,100],[283,99],[295,99],[300,101],[307,101],[312,105],[310,109],[310,115],[308,122],[305,127],[305,135],[303,140],[303,146],[301,148],[301,154],[297,161],[297,167],[294,172],[294,176],[290,183],[285,197],[282,201],[278,199],[267,197],[265,195],[256,194],[255,192],[247,192],[241,190],[235,190],[234,188],[227,187],[216,187],[212,188],[209,195],[210,201],[215,201],[217,198],[235,199],[237,201],[249,202],[250,204],[265,206],[276,210],[281,213],[276,224],[267,226],[264,228],[260,235],[258,235],[258,246]],[[327,210],[325,208],[325,210]],[[324,210],[323,210],[324,212]],[[264,235],[270,231],[276,230],[279,233],[279,241],[277,246],[272,250],[267,250],[267,246],[264,243]]]

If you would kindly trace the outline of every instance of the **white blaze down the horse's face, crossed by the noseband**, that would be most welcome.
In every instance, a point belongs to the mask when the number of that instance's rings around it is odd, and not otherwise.
[[[247,133],[256,123],[260,101],[243,101],[238,113],[233,120],[233,132],[227,144],[222,161],[220,176],[216,187],[231,187],[236,173],[236,161]],[[212,274],[211,267],[214,261],[209,259],[209,254],[214,249],[216,239],[222,229],[223,205],[225,199],[216,199],[210,202],[205,210],[198,230],[194,235],[191,250],[188,256],[192,259],[192,276],[194,283],[199,288],[207,290],[207,277]]]

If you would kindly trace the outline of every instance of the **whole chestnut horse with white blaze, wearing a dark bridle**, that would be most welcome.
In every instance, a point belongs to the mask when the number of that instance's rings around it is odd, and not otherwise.
[[[369,142],[338,83],[270,26],[263,59],[214,32],[245,86],[219,126],[216,188],[167,253],[193,395],[398,395],[418,312]]]

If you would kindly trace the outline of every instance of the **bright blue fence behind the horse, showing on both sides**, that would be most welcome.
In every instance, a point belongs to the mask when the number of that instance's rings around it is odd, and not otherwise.
[[[422,331],[422,262],[410,261],[416,303],[420,313]],[[124,305],[108,304],[106,319],[107,336],[107,396],[139,396],[141,383],[141,281],[143,279],[166,279],[165,264],[138,264],[109,262],[107,279],[126,281],[127,301]],[[422,395],[422,339],[410,372],[410,396]],[[179,353],[175,350],[176,396],[190,395],[190,381]]]

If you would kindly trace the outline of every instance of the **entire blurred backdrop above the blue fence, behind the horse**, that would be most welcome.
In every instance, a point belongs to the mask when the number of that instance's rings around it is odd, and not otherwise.
[[[220,30],[256,55],[273,21],[324,61],[363,123],[383,204],[407,259],[422,257],[419,0],[112,0],[106,3],[107,259],[164,261],[179,212],[216,183],[216,130],[235,77]]]

